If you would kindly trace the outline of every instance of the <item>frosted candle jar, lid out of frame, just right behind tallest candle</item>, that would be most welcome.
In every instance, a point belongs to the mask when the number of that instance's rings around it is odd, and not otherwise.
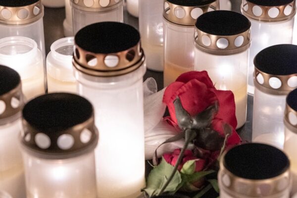
[[[148,69],[163,71],[163,2],[164,0],[140,0],[139,30],[141,44],[146,53]]]

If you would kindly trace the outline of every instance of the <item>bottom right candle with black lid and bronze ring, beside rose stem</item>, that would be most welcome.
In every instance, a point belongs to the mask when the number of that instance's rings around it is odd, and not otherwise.
[[[237,146],[223,155],[218,182],[220,198],[290,198],[290,161],[269,145]]]

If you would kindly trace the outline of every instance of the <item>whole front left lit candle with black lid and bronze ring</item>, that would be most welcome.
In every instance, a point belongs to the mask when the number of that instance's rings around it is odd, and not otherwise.
[[[97,198],[92,104],[73,94],[48,94],[23,108],[21,147],[27,198]]]

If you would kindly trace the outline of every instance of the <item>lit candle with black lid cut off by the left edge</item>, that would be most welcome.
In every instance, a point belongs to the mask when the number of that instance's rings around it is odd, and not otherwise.
[[[24,168],[18,147],[24,105],[21,78],[15,70],[0,65],[0,84],[0,189],[14,198],[24,198]]]

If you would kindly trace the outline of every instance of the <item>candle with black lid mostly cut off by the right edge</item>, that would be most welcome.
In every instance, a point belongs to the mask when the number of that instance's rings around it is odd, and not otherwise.
[[[297,77],[296,77],[297,78]],[[297,89],[292,91],[287,97],[285,110],[285,145],[284,151],[291,160],[291,173],[293,175],[292,193],[297,193]],[[296,198],[297,195],[294,197]]]

